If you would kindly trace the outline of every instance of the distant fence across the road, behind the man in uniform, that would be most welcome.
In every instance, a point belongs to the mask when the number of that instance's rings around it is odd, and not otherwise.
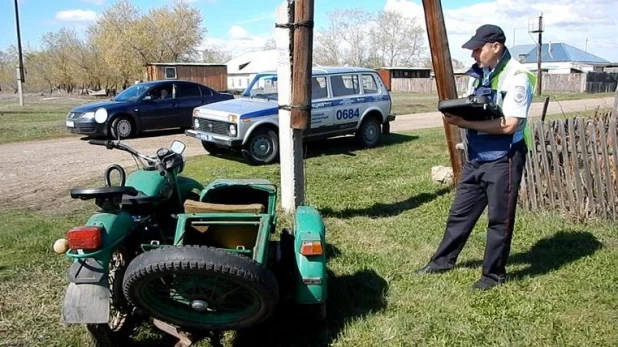
[[[461,95],[468,87],[468,76],[456,76],[457,94]],[[569,93],[608,93],[616,90],[618,73],[588,72],[572,74],[543,74],[544,92]],[[393,78],[392,92],[437,93],[434,78]]]

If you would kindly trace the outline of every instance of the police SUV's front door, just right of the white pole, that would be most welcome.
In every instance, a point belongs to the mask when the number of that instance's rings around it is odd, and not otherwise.
[[[311,78],[311,130],[309,134],[323,134],[332,131],[333,101],[329,97],[326,76]]]

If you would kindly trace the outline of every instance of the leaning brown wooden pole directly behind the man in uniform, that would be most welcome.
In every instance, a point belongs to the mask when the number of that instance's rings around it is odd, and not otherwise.
[[[436,75],[438,97],[440,100],[456,99],[457,86],[455,85],[455,76],[453,75],[451,52],[448,47],[441,1],[423,0],[423,8],[425,9],[425,22],[429,37],[429,49],[431,50],[431,62]],[[456,148],[456,145],[461,142],[459,127],[449,124],[445,119],[442,121],[444,122],[446,144],[451,157],[453,181],[457,184],[463,166],[461,153]]]

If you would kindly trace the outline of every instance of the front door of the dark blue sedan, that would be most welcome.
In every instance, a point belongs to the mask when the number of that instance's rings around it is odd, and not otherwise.
[[[171,119],[177,118],[176,101],[172,83],[157,84],[142,98],[139,116],[142,130],[170,128]],[[167,94],[167,95],[166,95]]]

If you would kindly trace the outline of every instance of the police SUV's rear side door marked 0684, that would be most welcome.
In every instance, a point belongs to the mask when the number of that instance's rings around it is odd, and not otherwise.
[[[357,74],[330,76],[333,93],[333,126],[336,130],[355,128],[362,116],[363,97]]]

